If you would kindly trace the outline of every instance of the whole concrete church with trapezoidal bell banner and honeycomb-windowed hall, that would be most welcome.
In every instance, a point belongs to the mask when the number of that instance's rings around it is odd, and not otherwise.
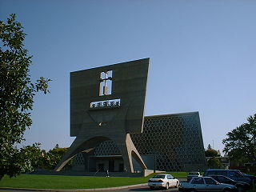
[[[150,59],[70,73],[70,136],[55,170],[205,170],[198,112],[144,117]]]

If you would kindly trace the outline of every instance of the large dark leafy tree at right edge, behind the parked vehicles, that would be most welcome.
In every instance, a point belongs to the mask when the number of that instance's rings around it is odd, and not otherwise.
[[[250,115],[247,121],[226,134],[227,138],[222,141],[225,145],[223,152],[234,159],[256,161],[256,114]]]

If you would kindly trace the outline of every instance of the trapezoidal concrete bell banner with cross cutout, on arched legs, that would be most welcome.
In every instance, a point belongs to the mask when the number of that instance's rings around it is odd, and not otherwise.
[[[149,65],[144,58],[70,73],[70,136],[76,138],[55,170],[108,140],[127,172],[134,172],[132,157],[146,169],[130,134],[142,133]]]

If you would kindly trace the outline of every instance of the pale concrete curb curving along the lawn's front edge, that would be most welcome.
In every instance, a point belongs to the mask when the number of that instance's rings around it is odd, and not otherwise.
[[[32,188],[10,188],[10,187],[0,187],[0,190],[26,190],[26,191],[55,191],[55,192],[68,192],[68,191],[101,191],[101,190],[121,190],[136,186],[147,186],[147,183],[131,185],[131,186],[115,186],[106,188],[95,188],[95,189],[77,189],[77,190],[55,190],[55,189],[32,189]]]

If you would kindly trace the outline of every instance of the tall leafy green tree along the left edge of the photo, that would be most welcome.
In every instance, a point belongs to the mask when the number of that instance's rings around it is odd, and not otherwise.
[[[31,82],[32,57],[23,48],[26,34],[15,19],[15,14],[10,14],[6,23],[0,21],[0,180],[4,174],[13,177],[30,166],[28,159],[34,158],[32,150],[38,150],[38,144],[22,149],[15,146],[25,140],[24,131],[32,124],[35,93],[49,92],[50,79],[41,77]]]

